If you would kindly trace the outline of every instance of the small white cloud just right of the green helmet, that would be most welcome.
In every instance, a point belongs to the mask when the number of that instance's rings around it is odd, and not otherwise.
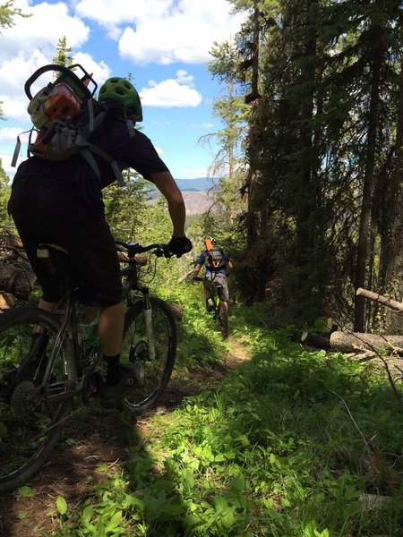
[[[176,72],[175,80],[149,81],[149,87],[140,91],[141,103],[145,107],[197,107],[201,104],[201,94],[192,85],[193,76],[185,71]]]

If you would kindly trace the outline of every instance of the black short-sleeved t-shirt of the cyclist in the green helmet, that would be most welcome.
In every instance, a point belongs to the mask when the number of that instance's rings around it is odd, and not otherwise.
[[[121,169],[132,167],[150,181],[150,174],[168,170],[152,145],[141,131],[134,129],[131,137],[125,121],[116,117],[107,118],[105,124],[94,132],[89,141],[115,158]],[[80,155],[54,162],[45,158],[30,157],[18,166],[13,179],[13,187],[25,177],[47,177],[66,182],[80,183],[82,198],[90,205],[96,205],[102,198],[101,190],[116,181],[116,176],[105,158],[94,155],[99,166],[101,182],[85,158]]]

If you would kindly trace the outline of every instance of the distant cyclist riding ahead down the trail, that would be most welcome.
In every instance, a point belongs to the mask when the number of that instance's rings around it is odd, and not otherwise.
[[[228,311],[228,283],[227,276],[232,268],[232,261],[229,259],[227,251],[218,246],[212,237],[204,239],[205,250],[201,251],[199,259],[193,268],[192,277],[198,277],[202,267],[206,268],[203,280],[204,294],[206,296],[207,309],[210,310],[211,294],[209,282],[216,282],[219,288],[220,299]]]

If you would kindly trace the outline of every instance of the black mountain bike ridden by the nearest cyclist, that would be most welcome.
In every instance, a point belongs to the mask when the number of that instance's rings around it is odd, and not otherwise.
[[[126,308],[121,362],[138,362],[144,371],[141,385],[121,407],[142,413],[167,387],[176,359],[176,321],[167,303],[141,285],[139,270],[151,260],[149,254],[157,256],[153,268],[158,257],[172,254],[167,244],[116,241],[116,248],[127,261],[121,270]],[[149,254],[139,260],[143,252]],[[102,382],[98,322],[88,323],[91,310],[78,302],[68,253],[44,244],[39,255],[60,276],[64,294],[52,313],[16,307],[0,315],[0,492],[15,489],[39,470],[66,420],[81,409],[72,410],[73,399],[89,405]]]

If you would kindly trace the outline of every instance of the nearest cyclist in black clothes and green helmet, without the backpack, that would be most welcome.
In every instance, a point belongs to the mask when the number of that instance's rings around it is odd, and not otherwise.
[[[100,88],[99,102],[107,105],[107,119],[89,141],[115,158],[121,169],[132,167],[155,184],[167,200],[172,222],[169,250],[177,257],[191,251],[192,243],[184,234],[182,193],[150,139],[138,130],[133,132],[133,124],[142,120],[137,91],[130,81],[111,78]],[[114,183],[116,175],[105,158],[96,154],[94,158],[100,182],[78,154],[63,162],[28,158],[13,179],[8,210],[41,286],[39,307],[52,311],[59,288],[47,265],[38,259],[37,247],[39,243],[57,243],[70,254],[82,302],[99,308],[99,338],[107,364],[101,405],[114,408],[133,383],[141,381],[141,371],[119,363],[124,330],[122,283],[102,199],[102,189]]]

